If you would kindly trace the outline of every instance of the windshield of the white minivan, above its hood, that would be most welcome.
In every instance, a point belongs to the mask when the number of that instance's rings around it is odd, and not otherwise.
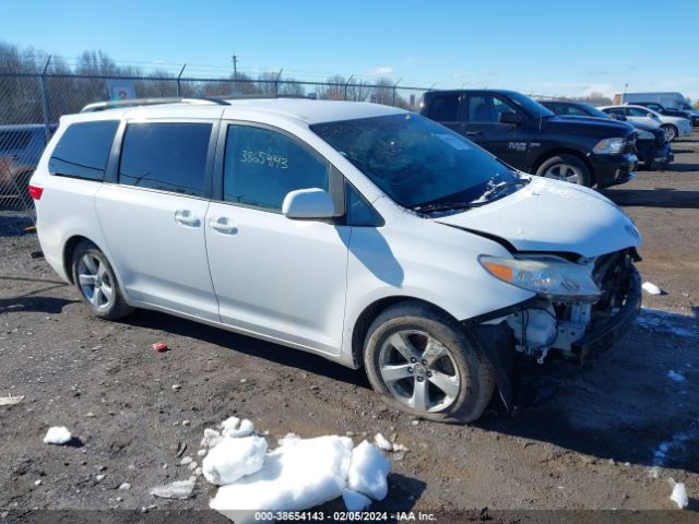
[[[473,142],[419,115],[342,120],[310,129],[404,207],[467,204],[503,182],[520,180]]]

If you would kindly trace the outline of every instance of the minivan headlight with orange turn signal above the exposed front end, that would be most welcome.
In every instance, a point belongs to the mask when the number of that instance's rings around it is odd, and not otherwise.
[[[478,261],[496,278],[547,298],[595,301],[602,294],[589,269],[557,257],[501,259],[481,255]]]

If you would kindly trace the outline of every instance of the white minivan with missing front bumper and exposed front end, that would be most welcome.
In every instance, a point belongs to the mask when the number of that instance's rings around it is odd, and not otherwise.
[[[434,420],[478,418],[496,385],[512,408],[516,352],[582,359],[640,308],[619,207],[381,105],[67,116],[29,190],[46,260],[96,315],[165,311],[365,366]]]

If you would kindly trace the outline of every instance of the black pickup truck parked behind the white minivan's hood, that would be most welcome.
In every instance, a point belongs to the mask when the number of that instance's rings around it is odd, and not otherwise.
[[[503,90],[430,91],[420,114],[521,171],[607,188],[635,177],[635,128],[599,118],[556,116]]]

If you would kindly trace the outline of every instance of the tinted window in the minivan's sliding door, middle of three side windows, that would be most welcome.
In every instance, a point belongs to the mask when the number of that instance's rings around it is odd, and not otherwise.
[[[129,123],[119,183],[203,196],[211,128],[199,122]]]

